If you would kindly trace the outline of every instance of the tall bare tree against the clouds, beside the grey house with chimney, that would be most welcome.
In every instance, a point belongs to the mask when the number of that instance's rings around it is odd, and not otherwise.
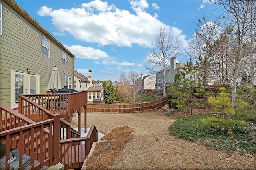
[[[170,58],[178,56],[180,42],[171,30],[160,27],[159,32],[155,36],[155,41],[151,45],[151,55],[146,58],[146,69],[156,74],[162,70],[163,78],[163,94],[166,96],[166,68],[170,63]]]

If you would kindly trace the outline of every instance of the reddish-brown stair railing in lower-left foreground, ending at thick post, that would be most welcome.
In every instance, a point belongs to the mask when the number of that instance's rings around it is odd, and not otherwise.
[[[56,145],[56,143],[59,143],[60,140],[59,114],[54,114],[53,118],[45,121],[34,122],[16,111],[9,109],[2,103],[0,103],[0,110],[2,118],[0,121],[0,142],[5,144],[6,155],[10,154],[10,147],[19,151],[19,167],[21,169],[25,168],[22,167],[23,154],[31,158],[31,169],[40,169],[45,165],[51,166],[58,164],[59,145]],[[7,120],[8,123],[6,123]],[[8,158],[6,156],[6,169],[9,169],[10,166],[7,162]],[[38,160],[40,163],[34,164],[34,160]]]

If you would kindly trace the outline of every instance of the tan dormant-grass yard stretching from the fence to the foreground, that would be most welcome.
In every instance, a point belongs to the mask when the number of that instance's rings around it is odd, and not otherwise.
[[[75,119],[73,127],[77,127]],[[103,134],[124,125],[134,130],[110,169],[256,169],[255,156],[220,152],[170,135],[168,127],[173,122],[160,111],[87,114],[87,127],[96,125]]]

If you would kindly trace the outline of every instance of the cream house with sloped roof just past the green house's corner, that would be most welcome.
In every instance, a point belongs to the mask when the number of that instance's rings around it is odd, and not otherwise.
[[[74,89],[75,90],[88,90],[90,81],[89,79],[78,73],[77,70],[74,72]]]

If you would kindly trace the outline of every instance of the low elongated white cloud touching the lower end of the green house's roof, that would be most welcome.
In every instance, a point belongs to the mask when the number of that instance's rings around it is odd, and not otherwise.
[[[80,45],[64,45],[70,52],[72,52],[77,58],[82,59],[104,59],[108,57],[108,54],[99,49],[94,49],[92,47],[83,47]]]

